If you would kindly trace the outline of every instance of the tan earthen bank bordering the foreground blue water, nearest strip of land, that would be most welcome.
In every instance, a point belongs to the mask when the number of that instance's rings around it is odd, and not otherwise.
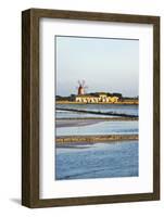
[[[68,144],[91,144],[97,142],[129,141],[138,140],[138,135],[86,135],[86,136],[62,136],[55,138],[56,146]]]

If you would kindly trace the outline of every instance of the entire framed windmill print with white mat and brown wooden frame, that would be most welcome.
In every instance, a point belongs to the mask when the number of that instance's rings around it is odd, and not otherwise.
[[[160,200],[160,17],[22,13],[22,204]]]

